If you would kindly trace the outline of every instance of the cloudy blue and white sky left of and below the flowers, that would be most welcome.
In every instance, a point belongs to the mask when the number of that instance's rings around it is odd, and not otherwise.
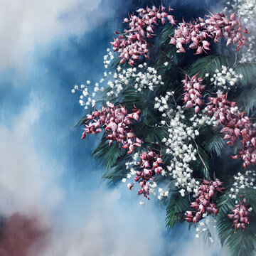
[[[168,5],[177,16],[210,8],[191,2]],[[185,226],[166,232],[154,198],[140,206],[125,184],[108,187],[91,157],[97,139],[81,142],[73,127],[85,112],[71,88],[102,77],[113,31],[145,4],[0,1],[0,215],[40,216],[48,242],[31,255],[226,255]]]

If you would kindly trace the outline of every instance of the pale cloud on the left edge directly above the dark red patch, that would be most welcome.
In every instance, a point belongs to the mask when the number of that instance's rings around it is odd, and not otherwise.
[[[0,126],[1,214],[17,210],[50,213],[63,200],[63,189],[58,186],[61,165],[36,151],[36,132],[32,132],[32,127],[42,107],[35,99],[14,118],[11,127]]]

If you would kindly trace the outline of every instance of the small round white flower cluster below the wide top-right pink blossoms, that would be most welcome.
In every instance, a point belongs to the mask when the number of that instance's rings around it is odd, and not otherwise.
[[[213,85],[217,85],[220,89],[230,90],[237,85],[240,79],[242,79],[242,74],[237,74],[233,68],[222,65],[221,70],[215,70],[210,82],[213,82]]]

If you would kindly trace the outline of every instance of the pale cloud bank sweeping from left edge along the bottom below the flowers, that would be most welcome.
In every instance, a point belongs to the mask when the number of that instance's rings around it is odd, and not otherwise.
[[[112,189],[82,189],[74,183],[65,196],[58,185],[61,163],[36,150],[33,136],[40,136],[40,131],[33,131],[33,124],[43,109],[34,97],[11,127],[0,126],[0,213],[39,213],[42,225],[50,227],[49,243],[40,256],[168,255],[172,251],[181,256],[228,255],[217,238],[209,247],[202,238],[194,238],[186,225],[180,228],[183,235],[189,233],[188,240],[176,233],[164,238],[164,210],[156,208],[154,198],[140,206],[142,197],[123,183]]]

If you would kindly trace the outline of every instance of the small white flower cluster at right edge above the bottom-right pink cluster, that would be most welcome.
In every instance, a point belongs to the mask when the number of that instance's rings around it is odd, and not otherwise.
[[[234,175],[235,182],[233,183],[233,187],[230,188],[230,194],[228,195],[230,198],[238,198],[238,193],[240,189],[243,188],[253,188],[256,189],[255,183],[255,171],[245,171],[245,174],[238,173],[238,176]]]

